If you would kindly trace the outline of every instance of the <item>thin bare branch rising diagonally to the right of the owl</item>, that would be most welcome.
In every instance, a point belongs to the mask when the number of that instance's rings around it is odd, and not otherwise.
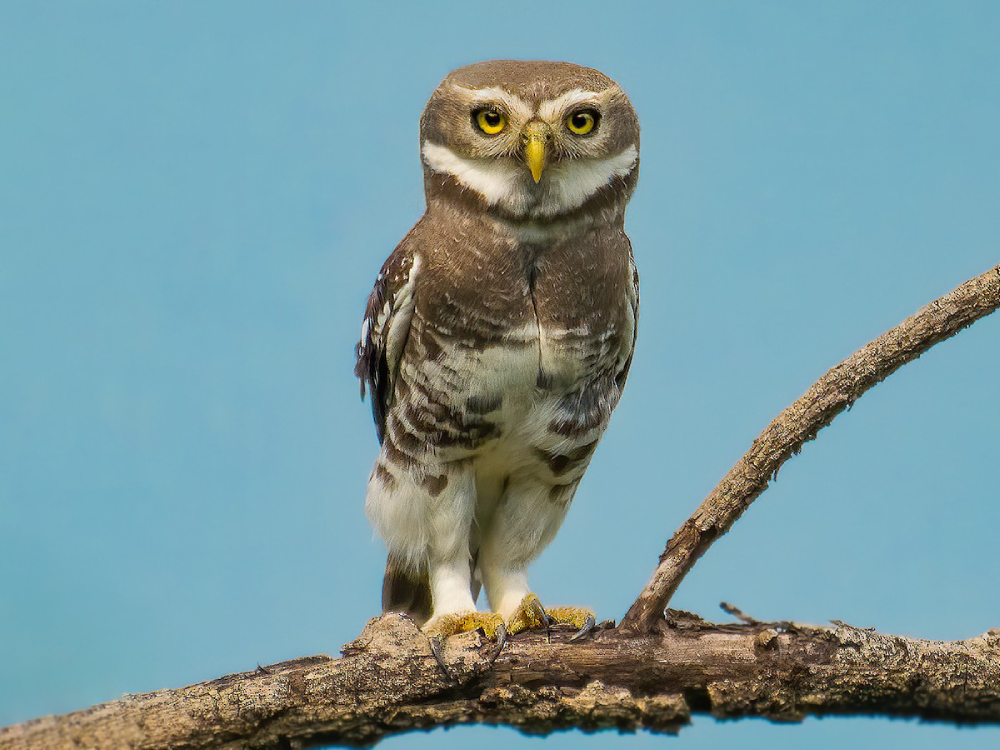
[[[660,562],[620,627],[653,628],[684,576],[767,489],[785,461],[862,394],[934,344],[1000,307],[1000,266],[922,307],[817,380],[774,418],[667,543]]]

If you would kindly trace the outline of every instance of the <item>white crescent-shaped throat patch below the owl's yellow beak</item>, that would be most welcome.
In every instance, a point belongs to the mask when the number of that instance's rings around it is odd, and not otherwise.
[[[631,172],[638,156],[636,147],[629,146],[603,159],[565,161],[546,169],[536,185],[528,168],[513,159],[469,159],[430,141],[424,141],[423,147],[424,163],[433,171],[451,175],[491,206],[532,217],[557,216],[579,208],[615,177]]]

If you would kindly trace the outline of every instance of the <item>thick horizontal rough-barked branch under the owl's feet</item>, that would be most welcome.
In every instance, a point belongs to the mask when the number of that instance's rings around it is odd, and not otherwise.
[[[652,632],[523,634],[504,649],[449,639],[447,672],[409,620],[372,620],[340,659],[316,656],[0,730],[0,747],[300,748],[365,745],[462,723],[530,733],[676,732],[692,713],[1000,722],[1000,630],[925,641],[839,624],[713,625],[669,612]]]

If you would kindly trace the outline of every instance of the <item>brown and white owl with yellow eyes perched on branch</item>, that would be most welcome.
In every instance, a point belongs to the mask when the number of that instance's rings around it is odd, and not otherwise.
[[[632,362],[638,118],[597,70],[481,62],[431,95],[420,154],[427,210],[378,274],[357,350],[381,442],[365,509],[389,548],[383,609],[439,636],[592,623],[543,608],[527,569]]]

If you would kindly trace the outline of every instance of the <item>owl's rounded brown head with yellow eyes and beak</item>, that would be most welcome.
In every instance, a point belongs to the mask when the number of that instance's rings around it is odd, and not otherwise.
[[[452,71],[420,118],[429,203],[472,202],[512,220],[590,207],[624,212],[639,173],[639,120],[603,73],[493,60]]]

